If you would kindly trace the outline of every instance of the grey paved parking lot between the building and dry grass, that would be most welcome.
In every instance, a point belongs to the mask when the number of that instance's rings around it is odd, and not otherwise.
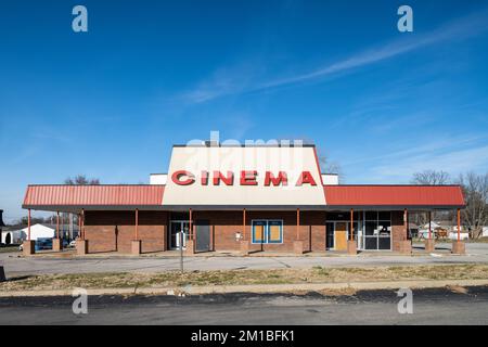
[[[232,269],[280,269],[322,267],[355,267],[355,266],[393,266],[393,265],[435,265],[435,264],[474,264],[488,262],[488,244],[466,244],[466,255],[450,255],[446,252],[450,245],[439,244],[444,252],[420,254],[414,256],[374,255],[371,253],[358,256],[329,257],[185,257],[187,270],[232,270]],[[0,266],[4,267],[7,277],[18,277],[44,273],[88,273],[88,272],[158,272],[178,270],[178,257],[120,257],[102,256],[85,258],[53,257],[20,257],[18,253],[0,254]]]

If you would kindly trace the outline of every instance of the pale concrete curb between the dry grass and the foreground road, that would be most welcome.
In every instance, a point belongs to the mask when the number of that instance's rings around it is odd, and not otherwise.
[[[321,291],[371,291],[409,288],[438,288],[446,286],[483,286],[488,280],[434,280],[434,281],[389,281],[389,282],[344,282],[344,283],[299,283],[266,285],[215,285],[215,286],[180,286],[180,287],[127,287],[87,290],[88,295],[206,295],[206,294],[278,294],[290,292]],[[1,292],[0,297],[36,297],[36,296],[72,296],[73,290],[52,291],[15,291]]]

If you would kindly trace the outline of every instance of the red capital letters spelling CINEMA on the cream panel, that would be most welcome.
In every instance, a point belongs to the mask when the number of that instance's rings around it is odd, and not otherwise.
[[[235,178],[239,177],[239,179]],[[288,185],[288,176],[286,171],[265,171],[262,174],[257,170],[240,170],[237,175],[233,171],[221,172],[214,170],[200,171],[200,179],[188,170],[176,170],[171,175],[171,181],[178,185],[192,185],[200,181],[201,185],[265,185],[265,187],[286,187]],[[301,171],[295,182],[291,182],[295,187],[304,184],[317,185],[316,180],[310,171]]]

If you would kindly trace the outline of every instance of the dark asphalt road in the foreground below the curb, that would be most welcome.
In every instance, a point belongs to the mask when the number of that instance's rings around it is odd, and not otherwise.
[[[412,313],[399,313],[395,291],[90,296],[87,314],[75,314],[67,296],[0,298],[0,324],[488,324],[488,287],[416,290],[412,297]]]

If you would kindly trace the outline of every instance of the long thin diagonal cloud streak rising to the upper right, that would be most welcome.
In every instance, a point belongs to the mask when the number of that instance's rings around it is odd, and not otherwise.
[[[222,69],[214,74],[207,81],[183,93],[182,99],[189,103],[207,102],[230,94],[269,91],[277,88],[290,87],[309,81],[320,80],[338,74],[349,73],[381,61],[393,59],[418,49],[445,41],[466,39],[488,29],[488,10],[449,22],[426,34],[403,34],[395,41],[384,46],[370,48],[357,52],[338,62],[326,64],[305,73],[297,73],[286,77],[269,80],[255,80],[259,72],[251,73],[247,68]]]

